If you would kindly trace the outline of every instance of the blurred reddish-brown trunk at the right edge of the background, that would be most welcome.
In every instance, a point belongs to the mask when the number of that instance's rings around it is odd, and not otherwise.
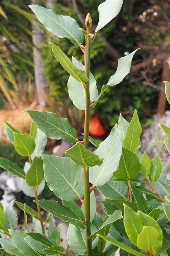
[[[161,76],[161,88],[165,89],[164,81],[169,81],[169,66],[166,61],[164,61],[164,65],[162,68],[162,76]],[[166,95],[164,90],[160,90],[158,104],[157,104],[157,114],[163,116],[166,109]]]

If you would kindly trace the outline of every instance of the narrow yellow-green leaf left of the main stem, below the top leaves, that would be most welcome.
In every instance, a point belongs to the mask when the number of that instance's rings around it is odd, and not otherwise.
[[[72,77],[74,77],[77,81],[84,83],[88,81],[88,77],[86,76],[86,72],[79,68],[76,68],[74,64],[70,61],[65,53],[60,49],[60,47],[51,43],[52,51],[56,57],[56,60],[60,62],[61,66],[65,71],[67,71]]]

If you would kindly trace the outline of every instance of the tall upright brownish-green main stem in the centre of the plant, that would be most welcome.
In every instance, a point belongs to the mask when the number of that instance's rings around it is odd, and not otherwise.
[[[84,52],[84,62],[86,76],[89,78],[90,73],[90,37],[88,36],[89,29],[85,35],[86,46]],[[90,83],[86,82],[85,88],[85,119],[84,119],[84,146],[89,148],[89,123],[90,123]],[[91,235],[90,231],[90,189],[89,189],[89,167],[84,167],[84,213],[86,222],[86,237]],[[86,255],[92,255],[91,239],[86,239]]]

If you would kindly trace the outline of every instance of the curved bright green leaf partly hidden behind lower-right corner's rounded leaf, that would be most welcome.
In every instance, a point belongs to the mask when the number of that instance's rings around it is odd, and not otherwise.
[[[159,249],[162,246],[162,239],[163,239],[162,230],[160,226],[156,223],[156,221],[152,217],[144,214],[143,212],[138,211],[138,215],[141,217],[141,220],[144,226],[152,226],[157,230],[159,237],[157,239],[157,243],[154,250],[155,252],[159,251]]]

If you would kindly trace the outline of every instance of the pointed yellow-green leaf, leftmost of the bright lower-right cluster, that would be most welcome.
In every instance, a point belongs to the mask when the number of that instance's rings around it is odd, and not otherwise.
[[[138,235],[142,232],[143,224],[140,216],[124,204],[124,228],[130,241],[137,246]]]

